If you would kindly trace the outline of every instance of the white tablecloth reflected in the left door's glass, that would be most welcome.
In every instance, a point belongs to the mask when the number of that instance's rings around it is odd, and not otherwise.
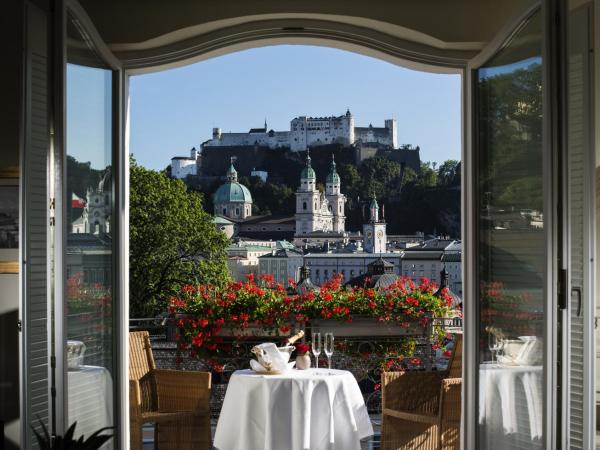
[[[113,425],[112,378],[104,367],[81,366],[68,375],[69,425],[77,422],[75,436],[87,439],[100,428]],[[114,434],[109,430],[107,433]],[[112,449],[113,440],[103,449]]]

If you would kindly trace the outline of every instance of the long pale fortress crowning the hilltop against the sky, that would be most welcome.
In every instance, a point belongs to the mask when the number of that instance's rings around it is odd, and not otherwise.
[[[356,142],[397,148],[396,120],[387,119],[383,127],[372,125],[355,127],[350,110],[342,116],[299,116],[291,120],[289,131],[269,130],[266,121],[264,128],[252,128],[247,133],[223,133],[220,128],[213,128],[212,139],[202,145],[207,147],[258,145],[302,151],[311,146],[352,145]]]

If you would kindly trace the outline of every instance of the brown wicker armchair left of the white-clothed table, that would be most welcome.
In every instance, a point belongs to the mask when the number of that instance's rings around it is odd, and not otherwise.
[[[142,449],[142,425],[154,423],[155,448],[212,449],[211,374],[157,369],[147,331],[129,333],[130,448]]]

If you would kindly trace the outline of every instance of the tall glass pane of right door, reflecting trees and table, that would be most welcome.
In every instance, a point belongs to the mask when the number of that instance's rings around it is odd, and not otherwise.
[[[538,12],[476,77],[482,450],[542,448],[541,29]]]

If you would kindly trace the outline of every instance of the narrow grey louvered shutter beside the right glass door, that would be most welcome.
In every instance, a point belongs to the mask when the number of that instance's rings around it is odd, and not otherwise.
[[[568,216],[570,303],[567,319],[568,448],[591,448],[593,330],[589,9],[570,12],[568,59]]]

